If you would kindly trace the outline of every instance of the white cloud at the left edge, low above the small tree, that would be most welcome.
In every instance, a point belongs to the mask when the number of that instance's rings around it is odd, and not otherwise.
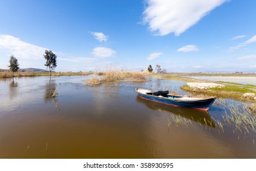
[[[0,50],[18,59],[42,59],[45,49],[47,48],[31,45],[12,35],[0,35]]]

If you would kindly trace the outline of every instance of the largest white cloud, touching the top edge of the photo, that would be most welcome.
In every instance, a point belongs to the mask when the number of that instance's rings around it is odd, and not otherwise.
[[[203,16],[229,0],[146,0],[143,22],[156,35],[180,35]]]

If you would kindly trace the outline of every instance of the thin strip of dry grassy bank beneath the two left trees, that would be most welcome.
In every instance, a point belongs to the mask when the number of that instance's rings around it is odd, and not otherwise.
[[[51,76],[75,76],[75,75],[90,75],[89,72],[55,72],[51,73]],[[50,76],[50,73],[37,73],[37,72],[16,72],[12,75],[12,72],[4,71],[0,72],[0,78],[12,78],[12,77],[33,77],[33,76]]]

